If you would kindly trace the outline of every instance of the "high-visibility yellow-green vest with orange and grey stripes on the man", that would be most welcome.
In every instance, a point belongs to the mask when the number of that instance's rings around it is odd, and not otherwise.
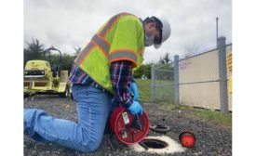
[[[81,50],[74,63],[96,83],[114,94],[110,63],[118,60],[132,62],[132,70],[141,66],[144,52],[144,29],[134,15],[121,13],[108,20]]]

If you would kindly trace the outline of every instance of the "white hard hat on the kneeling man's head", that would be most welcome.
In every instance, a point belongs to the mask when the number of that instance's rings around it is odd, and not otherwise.
[[[162,45],[162,43],[165,42],[168,39],[171,30],[170,30],[168,20],[165,20],[164,18],[156,18],[156,19],[161,21],[161,24],[162,24],[162,34],[161,34],[162,35],[162,40],[158,45],[154,45],[155,48],[159,48]]]

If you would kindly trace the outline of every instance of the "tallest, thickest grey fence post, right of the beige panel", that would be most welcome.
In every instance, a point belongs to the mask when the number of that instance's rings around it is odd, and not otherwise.
[[[221,111],[228,111],[227,73],[226,73],[226,38],[219,37],[217,48],[219,51],[219,78],[220,78],[220,103]]]

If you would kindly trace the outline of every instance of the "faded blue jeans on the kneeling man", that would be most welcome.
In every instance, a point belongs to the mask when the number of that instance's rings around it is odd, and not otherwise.
[[[112,96],[90,85],[74,84],[72,90],[78,123],[52,117],[44,110],[28,109],[24,110],[24,134],[82,152],[99,149]]]

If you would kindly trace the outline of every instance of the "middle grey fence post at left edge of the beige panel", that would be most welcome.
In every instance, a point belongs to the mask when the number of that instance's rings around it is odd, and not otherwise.
[[[177,104],[180,104],[179,59],[179,55],[174,56],[174,101]]]

